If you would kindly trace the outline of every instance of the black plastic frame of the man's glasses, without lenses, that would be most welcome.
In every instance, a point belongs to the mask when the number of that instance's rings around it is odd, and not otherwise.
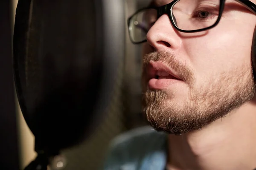
[[[171,3],[166,4],[164,6],[160,6],[160,7],[151,6],[151,7],[142,8],[142,9],[138,10],[131,17],[128,18],[128,29],[130,28],[130,22],[131,22],[132,17],[134,17],[134,15],[137,15],[138,13],[140,13],[141,11],[143,11],[145,9],[156,9],[157,10],[157,19],[160,18],[163,14],[167,14],[169,19],[171,20],[172,26],[174,26],[174,28],[180,32],[193,33],[193,32],[205,31],[207,29],[213,28],[218,25],[219,21],[221,20],[221,15],[224,10],[226,0],[220,0],[219,16],[218,16],[218,19],[216,20],[216,22],[212,26],[209,26],[207,28],[197,29],[197,30],[189,30],[189,31],[182,30],[182,29],[178,28],[174,22],[175,18],[173,16],[172,8],[178,1],[180,1],[180,0],[173,0]],[[254,14],[256,14],[256,4],[252,3],[250,0],[236,0],[236,1],[241,3],[242,5],[244,5],[245,7],[247,7]],[[130,40],[132,43],[139,44],[139,43],[147,41],[147,40],[143,40],[140,42],[134,42],[131,38],[130,30],[128,30],[128,31],[129,31],[129,36],[130,36]]]

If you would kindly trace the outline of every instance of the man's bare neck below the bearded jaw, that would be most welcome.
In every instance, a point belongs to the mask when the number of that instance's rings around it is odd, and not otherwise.
[[[169,135],[169,170],[256,168],[256,105],[248,102],[201,130]]]

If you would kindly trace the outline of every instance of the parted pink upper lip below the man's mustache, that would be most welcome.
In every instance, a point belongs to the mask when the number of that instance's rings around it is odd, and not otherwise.
[[[157,77],[157,71],[165,71],[166,73],[170,74],[175,79],[180,79],[180,77],[175,73],[175,71],[172,70],[168,65],[166,65],[163,62],[154,62],[150,61],[147,65],[147,72],[148,72],[148,78],[154,79]]]

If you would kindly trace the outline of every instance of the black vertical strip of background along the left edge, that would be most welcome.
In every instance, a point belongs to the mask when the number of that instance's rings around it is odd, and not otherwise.
[[[12,2],[0,0],[0,169],[18,170],[17,117],[12,77]]]

